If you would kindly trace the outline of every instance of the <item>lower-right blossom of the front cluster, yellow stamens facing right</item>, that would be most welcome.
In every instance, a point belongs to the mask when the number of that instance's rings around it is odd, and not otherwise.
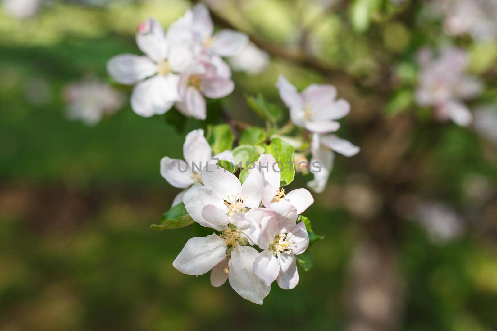
[[[288,233],[278,231],[276,220],[262,224],[257,245],[263,249],[253,263],[255,275],[267,286],[276,279],[279,287],[292,289],[299,282],[296,255],[309,246],[309,235],[304,222],[295,225]]]

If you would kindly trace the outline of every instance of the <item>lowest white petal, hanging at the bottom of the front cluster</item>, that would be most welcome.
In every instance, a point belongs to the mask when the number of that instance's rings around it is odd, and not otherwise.
[[[263,284],[253,272],[253,263],[259,253],[249,246],[236,246],[231,253],[228,279],[231,287],[244,299],[261,305],[271,286]]]

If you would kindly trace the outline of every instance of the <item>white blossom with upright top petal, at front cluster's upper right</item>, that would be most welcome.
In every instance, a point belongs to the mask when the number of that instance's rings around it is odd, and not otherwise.
[[[256,166],[264,177],[262,203],[275,212],[278,230],[282,231],[280,233],[288,232],[295,226],[298,215],[314,203],[314,198],[306,189],[296,189],[288,193],[285,193],[284,188],[280,189],[281,170],[271,154],[262,154]]]

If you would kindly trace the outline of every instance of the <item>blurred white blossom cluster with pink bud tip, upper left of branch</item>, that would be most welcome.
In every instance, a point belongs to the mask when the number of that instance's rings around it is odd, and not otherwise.
[[[175,105],[184,115],[204,120],[204,97],[222,98],[234,89],[231,69],[222,57],[241,52],[248,37],[230,29],[214,34],[208,9],[197,4],[167,31],[153,18],[142,22],[136,43],[144,56],[122,54],[107,64],[117,82],[135,85],[135,113],[150,117]]]

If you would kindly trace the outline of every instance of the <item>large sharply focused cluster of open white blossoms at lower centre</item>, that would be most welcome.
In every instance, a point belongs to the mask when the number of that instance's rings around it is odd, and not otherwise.
[[[201,133],[191,132],[187,140],[196,137],[200,141]],[[209,159],[210,152],[186,151],[190,143],[185,142],[185,158]],[[174,171],[172,162],[161,162],[168,181]],[[190,275],[211,270],[213,286],[228,279],[243,298],[262,304],[274,280],[284,289],[294,288],[299,281],[295,256],[307,249],[309,236],[304,222],[297,224],[297,218],[314,199],[305,189],[289,193],[280,189],[280,173],[274,171],[277,163],[272,155],[262,154],[256,165],[243,184],[213,163],[175,183],[193,184],[182,195],[186,211],[195,222],[217,232],[188,240],[173,266]]]

